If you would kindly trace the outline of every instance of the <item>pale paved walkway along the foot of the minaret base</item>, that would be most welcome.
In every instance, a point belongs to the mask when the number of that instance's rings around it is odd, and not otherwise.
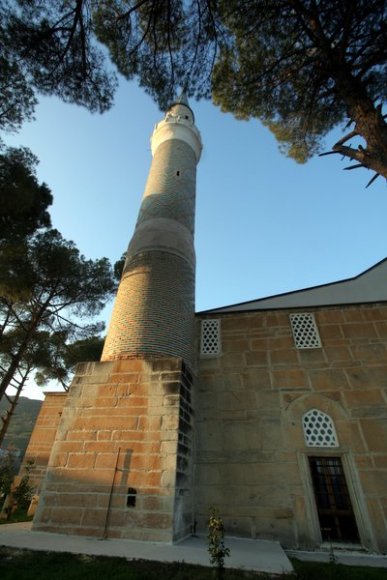
[[[290,573],[293,568],[279,542],[226,538],[230,557],[228,568],[255,570],[271,574]],[[31,523],[0,526],[0,545],[29,550],[73,552],[99,556],[159,562],[186,562],[209,566],[206,538],[191,537],[179,544],[136,542],[132,540],[98,540],[83,536],[67,536],[31,531]]]

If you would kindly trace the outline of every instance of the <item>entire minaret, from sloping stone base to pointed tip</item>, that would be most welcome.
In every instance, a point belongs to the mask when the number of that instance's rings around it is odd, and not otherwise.
[[[35,530],[171,542],[189,535],[195,519],[193,234],[202,146],[184,95],[151,145],[101,361],[77,366],[61,412],[52,407],[51,423],[42,423],[56,433]],[[37,434],[38,449],[46,439]]]

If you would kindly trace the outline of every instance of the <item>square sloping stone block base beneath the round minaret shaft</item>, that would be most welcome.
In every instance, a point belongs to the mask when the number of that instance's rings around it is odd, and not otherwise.
[[[189,535],[191,384],[179,358],[78,365],[34,529],[162,542]]]

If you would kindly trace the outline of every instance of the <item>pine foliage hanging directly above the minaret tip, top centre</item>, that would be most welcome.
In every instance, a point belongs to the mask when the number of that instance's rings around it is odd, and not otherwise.
[[[190,96],[211,97],[211,76],[224,35],[218,1],[111,0],[97,2],[95,32],[127,79],[139,84],[165,110],[184,87]]]

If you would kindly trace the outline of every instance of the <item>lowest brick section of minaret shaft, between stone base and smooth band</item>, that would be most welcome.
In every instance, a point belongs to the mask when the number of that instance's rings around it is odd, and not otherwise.
[[[135,256],[125,269],[102,361],[160,354],[193,360],[195,271],[166,252]]]

